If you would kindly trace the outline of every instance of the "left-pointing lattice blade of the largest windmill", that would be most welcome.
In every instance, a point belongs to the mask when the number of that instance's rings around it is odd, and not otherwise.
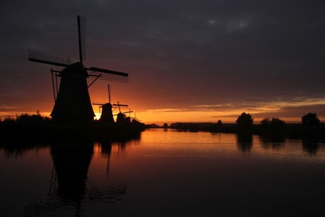
[[[42,64],[50,64],[54,66],[64,66],[67,67],[70,65],[69,59],[63,59],[59,57],[52,57],[47,54],[42,54],[40,52],[35,52],[32,50],[28,50],[28,60],[36,61]]]

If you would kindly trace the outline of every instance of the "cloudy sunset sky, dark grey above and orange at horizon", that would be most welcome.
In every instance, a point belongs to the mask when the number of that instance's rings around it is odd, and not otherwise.
[[[96,81],[92,102],[107,102],[110,83],[112,102],[145,123],[325,121],[324,0],[2,0],[1,118],[52,111],[49,70],[61,68],[28,61],[28,49],[78,61],[77,15],[84,65],[129,73]]]

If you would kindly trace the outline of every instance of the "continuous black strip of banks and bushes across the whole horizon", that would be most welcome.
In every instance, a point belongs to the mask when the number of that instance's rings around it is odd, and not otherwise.
[[[325,124],[321,123],[315,113],[302,117],[301,124],[286,124],[283,120],[272,117],[264,118],[260,124],[253,124],[254,118],[243,112],[237,118],[237,124],[224,124],[221,120],[212,122],[176,122],[164,124],[165,129],[185,131],[210,131],[212,133],[257,134],[274,141],[288,139],[307,139],[317,141],[325,139]],[[93,124],[55,124],[49,117],[22,114],[16,118],[5,117],[0,120],[3,142],[32,141],[42,143],[58,140],[116,141],[140,136],[146,128],[160,128],[157,124],[143,124],[136,120],[127,124],[106,124],[99,121]]]

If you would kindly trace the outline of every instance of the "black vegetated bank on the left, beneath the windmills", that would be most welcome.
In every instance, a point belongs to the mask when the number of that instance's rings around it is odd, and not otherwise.
[[[136,139],[146,125],[141,122],[129,124],[57,124],[49,117],[22,114],[16,118],[0,119],[1,143],[49,142],[59,140],[123,141]]]

